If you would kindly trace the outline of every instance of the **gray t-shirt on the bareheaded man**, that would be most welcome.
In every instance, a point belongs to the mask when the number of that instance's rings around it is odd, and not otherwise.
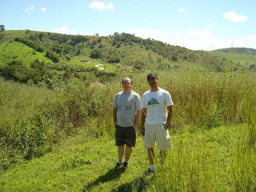
[[[113,109],[117,109],[116,124],[121,127],[130,127],[134,125],[136,111],[140,108],[140,96],[131,91],[130,93],[119,92],[116,94]]]

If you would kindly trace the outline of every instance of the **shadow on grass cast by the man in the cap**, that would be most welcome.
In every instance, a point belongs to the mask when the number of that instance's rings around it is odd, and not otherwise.
[[[153,184],[152,175],[148,176],[147,172],[144,172],[139,178],[134,179],[129,183],[120,185],[116,192],[142,192],[146,191],[148,186]]]

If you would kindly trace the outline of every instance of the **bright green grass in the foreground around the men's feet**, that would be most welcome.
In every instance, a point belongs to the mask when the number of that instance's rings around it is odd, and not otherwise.
[[[256,154],[247,146],[248,126],[220,126],[171,134],[165,166],[147,176],[148,161],[137,138],[127,170],[115,170],[114,135],[66,140],[44,157],[0,173],[1,191],[254,191]],[[172,132],[172,130],[171,130]],[[158,159],[158,155],[157,155]],[[157,160],[156,160],[157,162]]]

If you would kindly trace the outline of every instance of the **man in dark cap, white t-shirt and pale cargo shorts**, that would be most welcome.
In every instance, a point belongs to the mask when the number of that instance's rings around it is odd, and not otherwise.
[[[148,173],[154,173],[154,146],[160,150],[160,164],[164,163],[166,150],[171,147],[168,126],[173,114],[173,102],[170,93],[158,87],[158,77],[154,73],[147,76],[150,90],[142,95],[141,132],[144,135],[144,148],[147,148]]]

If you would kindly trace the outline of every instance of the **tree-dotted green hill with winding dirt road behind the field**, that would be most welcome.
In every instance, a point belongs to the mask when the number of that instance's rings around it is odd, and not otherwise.
[[[81,59],[87,62],[80,62]],[[50,88],[62,87],[66,78],[85,79],[88,74],[81,74],[83,72],[94,71],[92,76],[101,78],[99,81],[104,83],[116,72],[138,73],[148,69],[255,71],[255,61],[256,55],[193,51],[127,33],[115,32],[110,36],[30,30],[0,33],[0,75],[5,79],[44,84]]]

